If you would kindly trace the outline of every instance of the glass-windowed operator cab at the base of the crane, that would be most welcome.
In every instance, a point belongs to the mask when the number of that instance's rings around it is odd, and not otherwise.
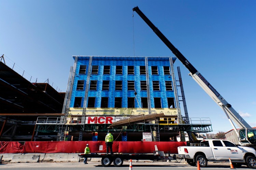
[[[256,145],[256,129],[244,128],[239,130],[239,141],[242,144]]]

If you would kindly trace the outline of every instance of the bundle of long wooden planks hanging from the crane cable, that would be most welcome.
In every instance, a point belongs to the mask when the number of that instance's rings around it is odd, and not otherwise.
[[[160,114],[154,113],[154,114],[148,114],[148,115],[142,114],[142,115],[131,116],[128,119],[122,119],[114,122],[112,125],[108,127],[108,129],[116,128],[119,126],[126,126],[126,125],[141,123],[141,122],[152,121],[162,116],[164,116],[163,113],[160,113]]]

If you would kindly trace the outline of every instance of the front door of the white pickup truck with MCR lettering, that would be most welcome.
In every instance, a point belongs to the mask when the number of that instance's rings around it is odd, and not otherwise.
[[[223,140],[222,142],[224,143],[224,148],[227,149],[228,157],[231,160],[243,160],[244,152],[240,148],[236,147],[236,145],[230,141]]]

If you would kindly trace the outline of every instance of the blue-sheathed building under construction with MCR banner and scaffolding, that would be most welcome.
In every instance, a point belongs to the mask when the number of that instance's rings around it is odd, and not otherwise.
[[[109,57],[73,56],[58,140],[104,140],[108,127],[118,120],[136,115],[162,113],[164,116],[143,123],[111,129],[117,141],[140,141],[142,132],[152,134],[152,140],[171,141],[184,131],[210,132],[210,120],[188,117],[179,73],[183,100],[179,99],[174,74],[173,57]],[[181,114],[180,102],[185,108]],[[50,120],[48,120],[50,119]],[[39,118],[38,130],[46,129],[52,118]],[[206,123],[202,123],[206,122]],[[193,122],[192,122],[193,123]],[[41,127],[41,128],[40,128]],[[181,131],[181,132],[180,132]]]

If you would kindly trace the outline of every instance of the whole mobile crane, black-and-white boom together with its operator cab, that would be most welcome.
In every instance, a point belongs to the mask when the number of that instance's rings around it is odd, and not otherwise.
[[[181,63],[190,71],[189,75],[200,85],[200,87],[213,99],[219,107],[223,109],[234,131],[234,136],[238,138],[237,145],[249,146],[256,149],[256,130],[252,127],[232,108],[218,91],[197,71],[197,69],[185,58],[182,53],[175,48],[171,42],[158,30],[158,28],[141,12],[138,6],[134,7],[135,11],[146,24],[154,31],[154,33],[162,40],[163,43],[172,51],[172,53],[181,61]],[[234,121],[239,126],[237,131]],[[244,133],[243,133],[244,132]],[[250,133],[250,134],[249,134]]]

